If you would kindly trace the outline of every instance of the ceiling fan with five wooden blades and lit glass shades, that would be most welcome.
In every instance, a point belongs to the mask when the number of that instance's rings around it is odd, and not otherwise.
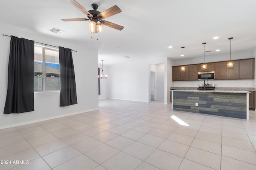
[[[122,30],[124,27],[121,25],[117,25],[115,23],[103,20],[105,18],[108,18],[110,16],[113,16],[115,14],[118,14],[122,12],[118,6],[112,6],[111,8],[99,12],[97,11],[98,5],[97,4],[92,4],[92,9],[87,11],[84,7],[82,7],[78,2],[75,0],[67,0],[70,2],[72,5],[74,5],[78,10],[82,11],[84,14],[87,15],[88,18],[70,18],[70,19],[61,19],[62,21],[89,21],[89,29],[90,33],[98,33],[103,31],[103,25],[106,25],[108,27]]]

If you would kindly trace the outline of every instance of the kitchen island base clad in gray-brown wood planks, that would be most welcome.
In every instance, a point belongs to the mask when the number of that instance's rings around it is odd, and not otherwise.
[[[249,118],[248,91],[172,90],[172,110]]]

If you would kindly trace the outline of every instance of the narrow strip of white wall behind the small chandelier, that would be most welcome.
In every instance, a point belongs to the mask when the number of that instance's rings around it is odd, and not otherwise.
[[[104,64],[104,63],[103,63]],[[102,68],[102,63],[98,64],[99,68]],[[100,95],[99,99],[107,99],[108,98],[108,79],[109,79],[109,74],[108,74],[108,66],[103,65],[104,67],[104,75],[108,75],[108,78],[102,78],[100,79]],[[100,69],[100,74],[102,73],[102,69]]]

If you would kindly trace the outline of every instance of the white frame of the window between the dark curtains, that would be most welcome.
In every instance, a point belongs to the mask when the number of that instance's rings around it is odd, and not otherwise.
[[[35,47],[40,47],[42,48],[42,90],[38,90],[38,91],[35,91],[34,92],[60,92],[60,90],[45,90],[45,78],[46,78],[46,50],[50,50],[50,51],[55,51],[55,52],[58,52],[59,53],[59,49],[55,49],[55,48],[50,48],[50,47],[45,47],[45,46],[41,46],[41,45],[34,45]],[[34,60],[35,62],[35,60]],[[60,63],[59,63],[60,64]],[[59,73],[60,75],[60,73]]]

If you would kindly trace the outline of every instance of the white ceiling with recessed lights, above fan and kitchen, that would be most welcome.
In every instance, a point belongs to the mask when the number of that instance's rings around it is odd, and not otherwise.
[[[256,48],[256,0],[76,0],[86,10],[98,4],[98,11],[117,5],[122,12],[105,20],[124,26],[122,31],[104,26],[91,34],[88,21],[64,22],[61,18],[86,18],[66,0],[2,0],[0,23],[36,33],[78,41],[98,49],[104,65],[127,60],[170,57],[184,60]],[[52,33],[52,27],[64,33]],[[13,33],[15,35],[15,33]],[[218,36],[219,39],[212,39]],[[26,38],[26,37],[24,37]],[[36,41],[36,40],[35,40]],[[173,48],[169,49],[168,46]],[[216,49],[220,49],[216,52]],[[75,49],[74,49],[75,50]],[[124,56],[130,57],[125,58]]]

